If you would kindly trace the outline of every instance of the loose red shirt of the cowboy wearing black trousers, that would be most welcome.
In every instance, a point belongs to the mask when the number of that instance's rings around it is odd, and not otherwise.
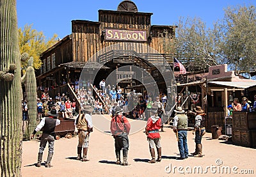
[[[118,115],[118,116],[114,116],[111,119],[110,130],[112,135],[120,135],[123,132],[126,132],[127,134],[129,134],[130,129],[131,129],[131,125],[127,120],[127,118],[125,118],[125,116]]]

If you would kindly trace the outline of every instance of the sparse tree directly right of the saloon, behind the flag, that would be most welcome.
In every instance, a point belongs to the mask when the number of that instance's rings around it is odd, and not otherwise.
[[[214,36],[202,20],[180,17],[173,40],[165,40],[168,49],[184,66],[191,70],[204,70],[218,65],[214,55]],[[170,38],[170,36],[167,38]],[[167,42],[167,43],[166,43]]]

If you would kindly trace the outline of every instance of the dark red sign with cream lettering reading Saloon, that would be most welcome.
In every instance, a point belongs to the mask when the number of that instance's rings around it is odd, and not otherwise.
[[[147,32],[142,30],[105,29],[105,40],[146,42]]]

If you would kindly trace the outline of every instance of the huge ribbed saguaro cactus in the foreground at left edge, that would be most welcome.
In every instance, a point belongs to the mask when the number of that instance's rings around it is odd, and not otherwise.
[[[1,176],[21,176],[22,93],[15,0],[0,0],[0,24]]]

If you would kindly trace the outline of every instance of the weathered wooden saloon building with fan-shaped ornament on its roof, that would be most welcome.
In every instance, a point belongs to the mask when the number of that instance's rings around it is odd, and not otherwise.
[[[117,10],[99,10],[98,22],[72,20],[72,34],[42,53],[43,65],[36,73],[38,86],[56,88],[63,81],[72,83],[79,80],[84,67],[88,82],[98,86],[120,66],[136,65],[148,70],[152,63],[172,65],[172,56],[164,52],[163,34],[175,36],[177,26],[152,25],[152,15],[138,12],[132,1],[122,1]],[[118,49],[111,48],[113,45],[118,45]],[[90,63],[85,65],[86,62]],[[90,75],[93,70],[99,70],[95,78]],[[116,78],[122,80],[132,74],[131,70],[118,71]],[[136,84],[131,78],[123,83],[123,88]],[[87,87],[87,83],[80,86]]]

